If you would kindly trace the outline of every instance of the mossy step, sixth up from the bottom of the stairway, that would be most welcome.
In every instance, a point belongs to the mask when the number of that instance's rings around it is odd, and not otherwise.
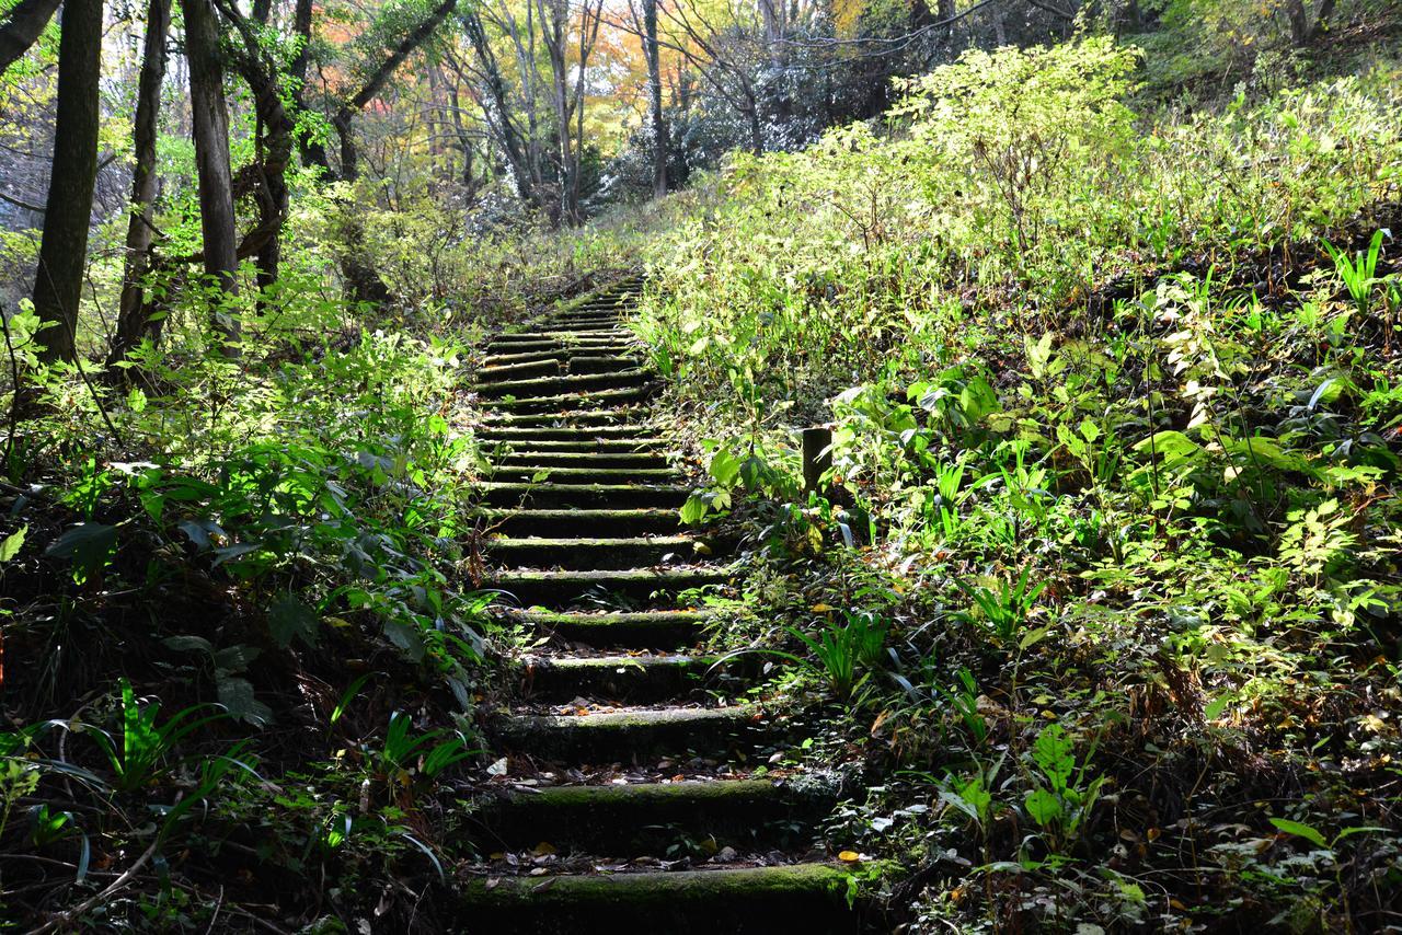
[[[723,585],[730,575],[723,568],[635,568],[627,571],[503,571],[494,576],[492,587],[513,596],[522,607],[569,607],[572,603],[600,597],[651,601],[676,606],[677,596],[712,585]]]

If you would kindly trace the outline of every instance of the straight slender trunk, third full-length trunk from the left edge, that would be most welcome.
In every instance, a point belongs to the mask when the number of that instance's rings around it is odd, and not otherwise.
[[[238,292],[238,234],[234,184],[229,165],[229,108],[219,49],[219,20],[209,0],[181,0],[185,13],[185,59],[189,62],[189,104],[195,121],[195,167],[199,174],[199,226],[205,273],[226,294]],[[238,320],[215,314],[215,329],[238,339]]]

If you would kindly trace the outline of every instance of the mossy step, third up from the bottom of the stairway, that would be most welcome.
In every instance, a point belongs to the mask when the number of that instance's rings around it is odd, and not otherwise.
[[[506,715],[492,726],[501,749],[585,764],[632,763],[660,753],[718,756],[782,735],[750,705],[621,708],[587,715]]]

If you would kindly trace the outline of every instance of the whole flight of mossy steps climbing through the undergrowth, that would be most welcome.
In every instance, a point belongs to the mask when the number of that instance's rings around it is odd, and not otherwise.
[[[848,871],[815,847],[830,793],[770,778],[785,726],[694,648],[719,542],[677,527],[687,491],[653,374],[620,327],[638,283],[489,345],[484,520],[495,586],[538,636],[494,742],[502,792],[468,931],[855,932]],[[548,472],[548,474],[547,474]],[[778,756],[775,756],[778,754]],[[761,774],[756,778],[756,774]]]

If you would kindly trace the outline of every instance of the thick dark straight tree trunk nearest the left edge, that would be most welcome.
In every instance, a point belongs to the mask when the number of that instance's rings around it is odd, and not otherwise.
[[[67,0],[59,38],[53,164],[34,282],[35,313],[43,321],[57,322],[41,332],[43,360],[77,356],[79,300],[97,181],[101,66],[102,0]]]

